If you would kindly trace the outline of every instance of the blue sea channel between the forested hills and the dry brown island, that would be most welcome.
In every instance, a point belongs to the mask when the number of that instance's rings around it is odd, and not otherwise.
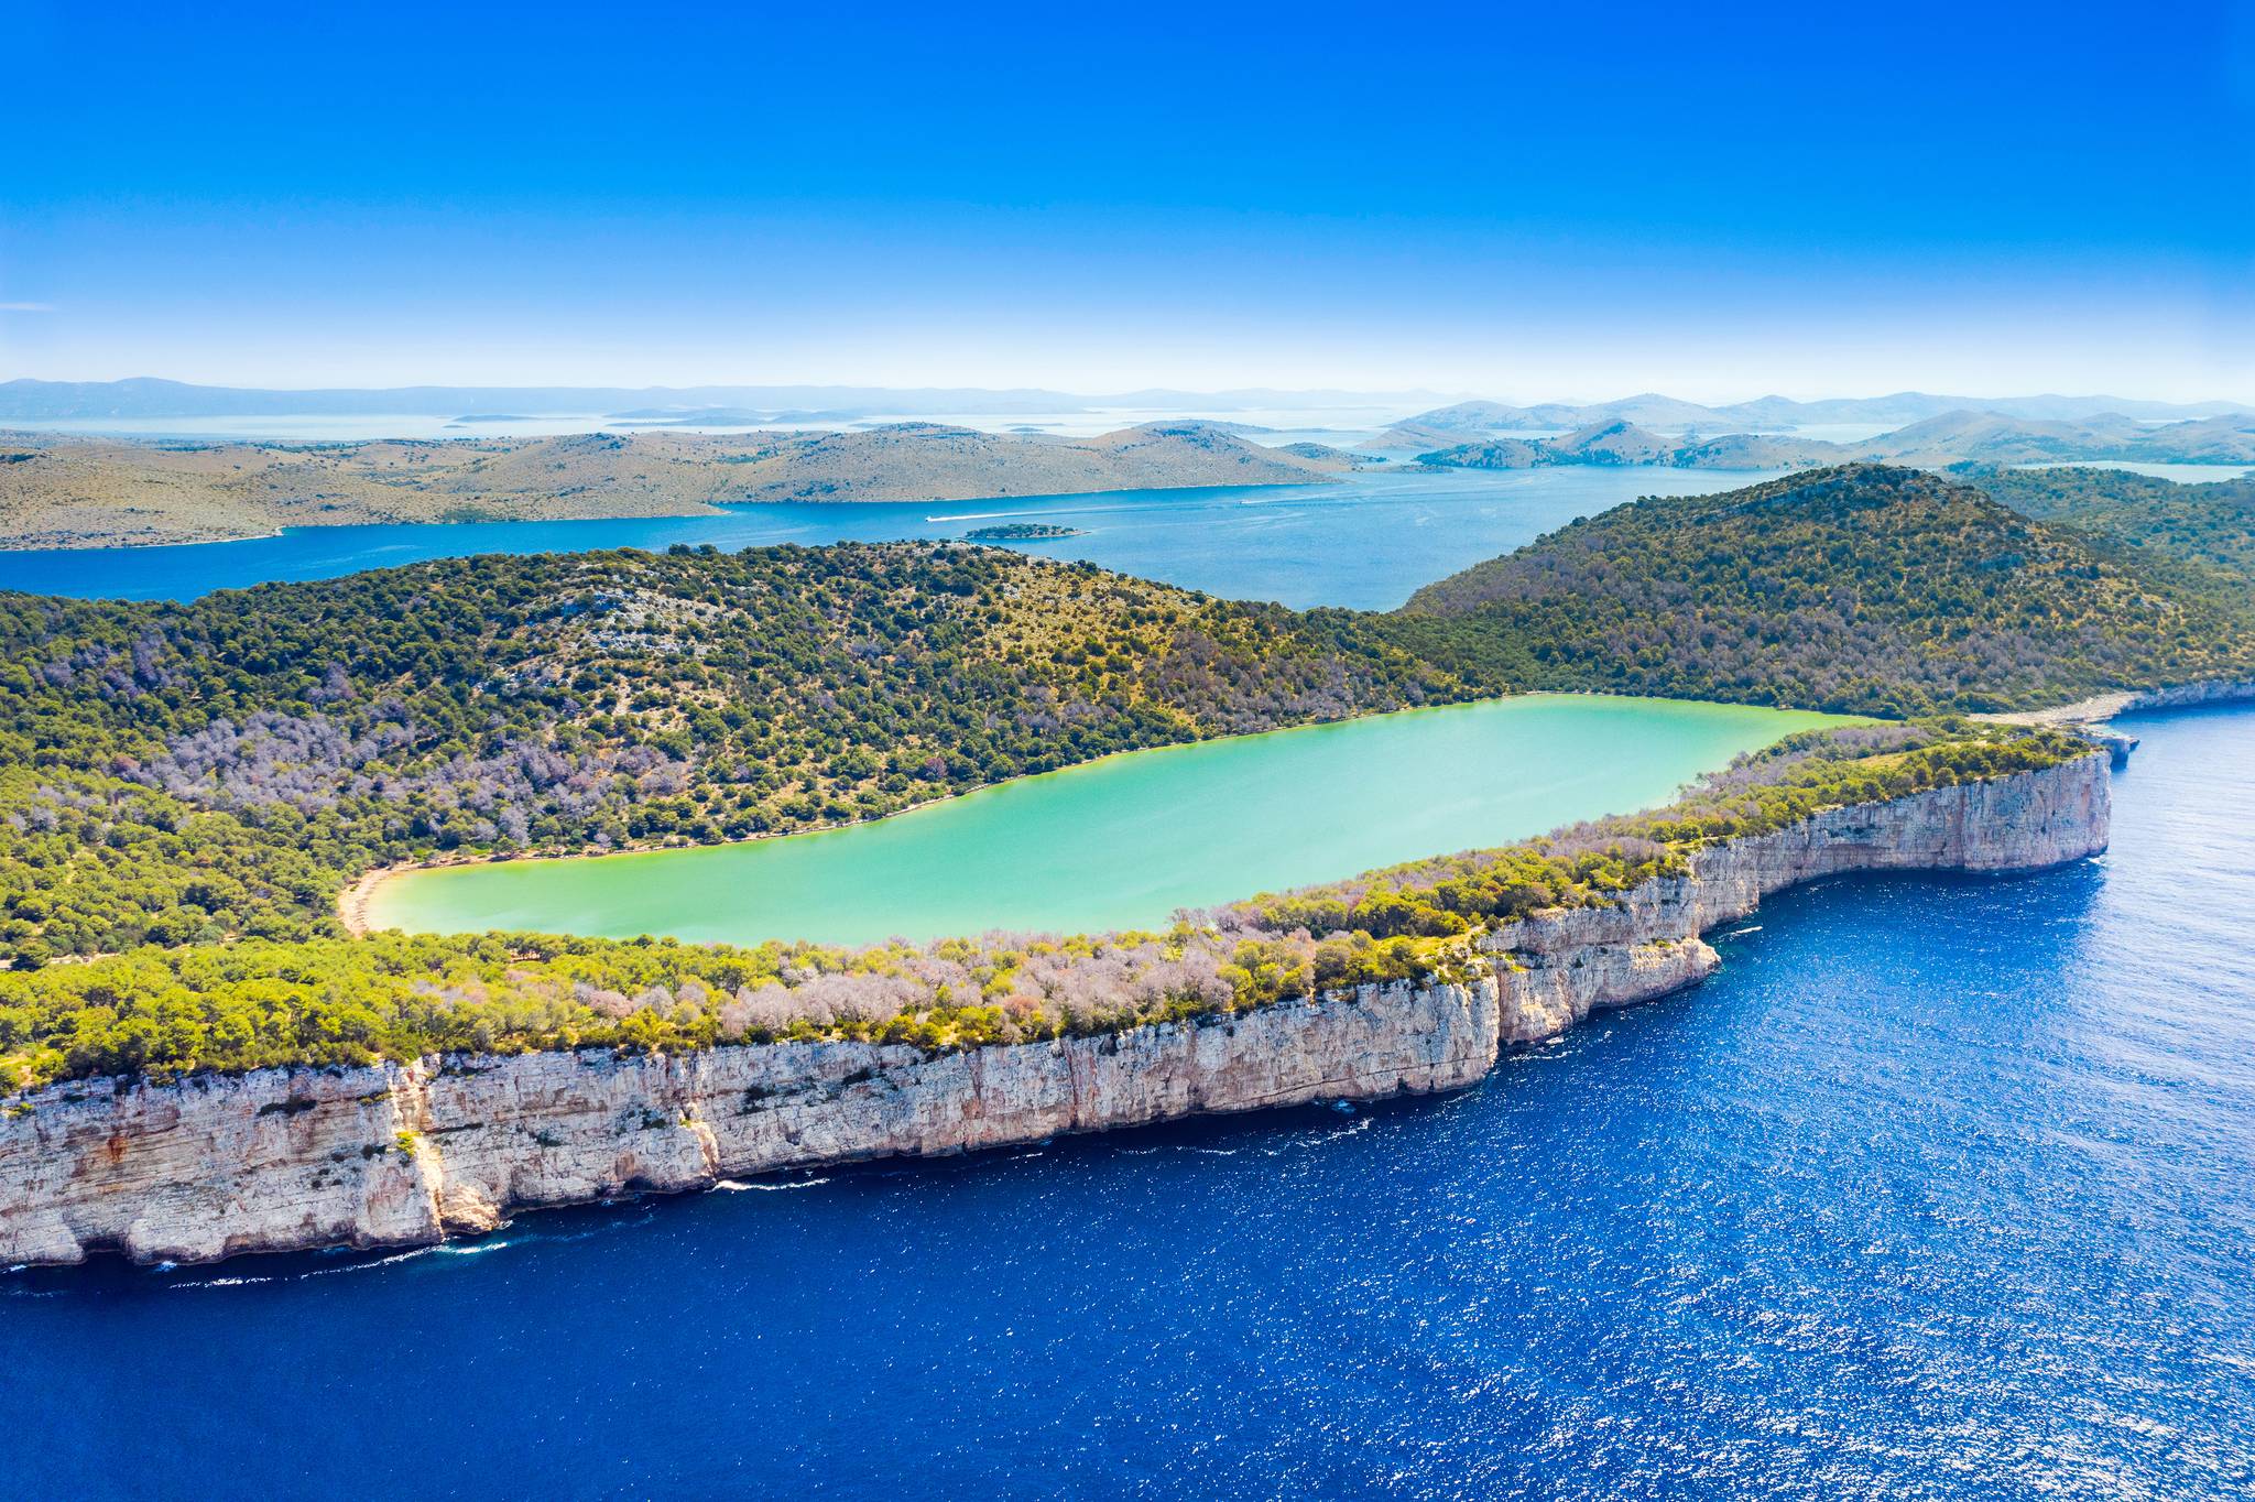
[[[643,521],[485,521],[462,525],[295,528],[178,548],[0,553],[0,589],[180,600],[262,580],[334,580],[469,553],[571,553],[713,544],[963,537],[1008,521],[1085,537],[1012,544],[1044,557],[1294,609],[1394,609],[1439,577],[1637,496],[1703,496],[1775,471],[1558,467],[1364,471],[1333,485],[1141,489],[1006,501],[749,503],[717,516]]]

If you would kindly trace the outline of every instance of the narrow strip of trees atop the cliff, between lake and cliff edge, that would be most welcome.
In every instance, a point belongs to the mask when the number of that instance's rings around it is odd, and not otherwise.
[[[0,1083],[778,1037],[956,1049],[1222,1015],[1448,972],[1473,936],[1610,902],[1705,841],[2079,753],[2057,731],[1966,722],[1811,731],[1662,812],[1254,898],[1166,934],[866,949],[537,934],[144,945],[0,974]]]

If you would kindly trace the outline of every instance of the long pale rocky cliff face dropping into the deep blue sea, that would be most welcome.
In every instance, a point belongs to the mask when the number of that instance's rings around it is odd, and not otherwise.
[[[1617,907],[1538,913],[1461,983],[925,1055],[855,1042],[530,1053],[56,1085],[0,1116],[0,1263],[417,1245],[514,1209],[1204,1112],[1457,1089],[1504,1044],[1703,979],[1700,934],[1851,871],[2025,871],[2106,846],[2106,758],[1820,814]]]

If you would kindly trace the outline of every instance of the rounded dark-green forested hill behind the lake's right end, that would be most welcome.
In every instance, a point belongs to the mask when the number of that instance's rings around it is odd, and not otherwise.
[[[2255,674],[2244,591],[1914,469],[1646,498],[1421,589],[1391,636],[1488,683],[2000,710]]]

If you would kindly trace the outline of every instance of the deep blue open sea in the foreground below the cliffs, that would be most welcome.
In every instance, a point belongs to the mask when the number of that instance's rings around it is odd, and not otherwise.
[[[11,1495],[2246,1497],[2255,710],[1482,1087],[0,1279]]]

